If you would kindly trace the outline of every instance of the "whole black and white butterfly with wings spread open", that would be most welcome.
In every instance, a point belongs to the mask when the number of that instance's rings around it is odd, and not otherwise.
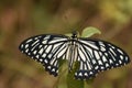
[[[89,79],[99,72],[120,67],[130,62],[128,54],[120,47],[89,37],[77,37],[57,34],[42,34],[23,41],[20,51],[43,64],[45,70],[57,76],[59,59],[67,59],[69,70],[74,62],[79,62],[75,73],[77,79]]]

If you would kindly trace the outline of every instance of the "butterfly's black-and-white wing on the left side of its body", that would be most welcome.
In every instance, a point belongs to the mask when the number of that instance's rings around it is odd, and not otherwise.
[[[36,35],[23,41],[19,50],[43,64],[50,74],[57,76],[58,58],[65,58],[67,40],[64,35]]]

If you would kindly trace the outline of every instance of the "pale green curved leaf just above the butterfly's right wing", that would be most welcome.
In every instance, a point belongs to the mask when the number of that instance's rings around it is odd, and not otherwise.
[[[96,33],[101,34],[101,32],[98,29],[92,28],[92,26],[88,26],[82,31],[81,37],[90,37]]]

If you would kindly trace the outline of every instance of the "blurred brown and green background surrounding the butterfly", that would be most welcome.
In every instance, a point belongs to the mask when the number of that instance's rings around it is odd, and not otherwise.
[[[0,0],[0,88],[55,88],[58,77],[18,50],[29,36],[95,26],[132,57],[132,0]],[[64,81],[61,81],[65,88]],[[88,88],[132,88],[132,64],[99,74]]]

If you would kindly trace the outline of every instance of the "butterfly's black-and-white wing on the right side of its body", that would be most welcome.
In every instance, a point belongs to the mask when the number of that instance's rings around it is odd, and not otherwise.
[[[78,38],[79,70],[75,77],[86,79],[95,77],[99,72],[120,67],[130,62],[129,56],[120,47],[100,40]]]

